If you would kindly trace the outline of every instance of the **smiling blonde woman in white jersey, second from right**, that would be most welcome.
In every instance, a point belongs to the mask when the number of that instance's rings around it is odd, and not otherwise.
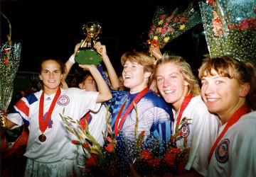
[[[172,105],[172,130],[175,130],[183,118],[191,119],[181,125],[183,139],[177,142],[177,147],[183,148],[183,141],[187,139],[187,147],[191,148],[185,176],[206,176],[207,156],[217,136],[219,121],[217,116],[208,112],[203,103],[200,87],[191,67],[182,57],[166,51],[156,64],[156,84],[164,100]]]

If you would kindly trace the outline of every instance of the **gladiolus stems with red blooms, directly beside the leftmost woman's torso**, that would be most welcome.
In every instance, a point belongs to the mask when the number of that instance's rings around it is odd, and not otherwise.
[[[107,114],[108,114],[107,107]],[[64,115],[63,110],[63,115]],[[116,140],[113,138],[113,133],[110,125],[110,120],[108,115],[106,115],[107,119],[107,132],[109,133],[110,137],[107,137],[106,132],[102,132],[103,138],[110,142],[110,144],[103,147],[95,140],[94,137],[90,134],[89,126],[87,124],[87,120],[85,120],[85,129],[82,128],[82,125],[77,120],[76,122],[73,118],[64,117],[60,114],[60,117],[65,122],[67,126],[65,128],[73,133],[78,140],[72,140],[73,144],[77,144],[81,146],[84,154],[84,165],[85,171],[83,171],[83,175],[85,176],[114,176],[117,175],[117,156],[114,152],[114,148],[117,146]],[[78,130],[73,129],[71,124],[77,124]]]

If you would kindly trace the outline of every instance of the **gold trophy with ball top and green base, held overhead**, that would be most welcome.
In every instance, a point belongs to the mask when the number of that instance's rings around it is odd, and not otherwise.
[[[101,55],[95,50],[94,45],[101,33],[101,26],[96,21],[89,22],[82,26],[82,31],[86,36],[85,40],[80,45],[78,52],[75,55],[75,61],[79,64],[95,64],[100,65],[102,61]],[[86,47],[83,47],[87,43]]]

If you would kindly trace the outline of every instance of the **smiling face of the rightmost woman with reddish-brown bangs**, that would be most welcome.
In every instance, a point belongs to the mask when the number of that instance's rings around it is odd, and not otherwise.
[[[240,105],[242,86],[237,79],[220,76],[213,69],[211,73],[213,76],[203,76],[201,79],[201,94],[208,110],[217,113],[220,118],[226,113],[235,113],[234,110]]]

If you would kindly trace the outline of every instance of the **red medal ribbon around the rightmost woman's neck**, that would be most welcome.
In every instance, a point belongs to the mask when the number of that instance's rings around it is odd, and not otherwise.
[[[210,164],[210,159],[213,156],[213,152],[215,148],[217,147],[218,143],[220,142],[220,139],[225,135],[225,132],[228,131],[228,128],[234,125],[238,120],[242,117],[242,115],[245,115],[250,112],[250,109],[247,107],[247,105],[242,105],[241,108],[235,111],[235,113],[232,115],[230,120],[228,120],[227,125],[225,126],[224,130],[220,133],[218,138],[216,139],[215,143],[213,144],[212,149],[210,150],[210,154],[208,157],[208,164]]]

